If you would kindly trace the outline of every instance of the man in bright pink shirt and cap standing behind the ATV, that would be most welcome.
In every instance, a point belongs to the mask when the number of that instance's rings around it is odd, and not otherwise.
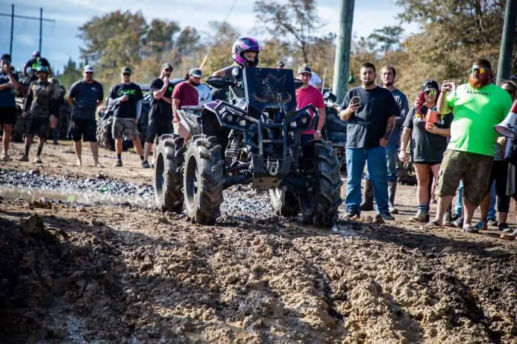
[[[309,83],[311,81],[312,71],[308,64],[301,65],[298,68],[298,78],[303,81],[303,86],[296,90],[296,108],[301,109],[309,104],[314,105],[320,112],[320,119],[316,124],[316,129],[307,130],[301,133],[300,146],[304,146],[312,139],[319,139],[322,135],[322,128],[325,124],[325,102],[323,101],[322,92]],[[314,118],[314,113],[311,111]]]

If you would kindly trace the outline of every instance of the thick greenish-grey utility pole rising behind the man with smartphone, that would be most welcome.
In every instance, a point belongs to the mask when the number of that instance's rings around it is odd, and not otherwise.
[[[352,24],[354,22],[355,0],[341,0],[340,30],[334,61],[334,80],[332,92],[338,103],[343,101],[348,89],[348,69],[350,66],[350,46],[352,43]]]

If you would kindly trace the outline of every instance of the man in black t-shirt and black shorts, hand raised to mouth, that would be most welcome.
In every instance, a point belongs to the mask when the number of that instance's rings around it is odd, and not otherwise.
[[[163,134],[170,134],[172,129],[172,91],[173,86],[169,85],[169,78],[172,73],[172,65],[164,63],[160,70],[160,77],[151,81],[153,100],[149,109],[149,125],[144,145],[143,168],[149,168],[147,161],[151,148],[156,138]]]

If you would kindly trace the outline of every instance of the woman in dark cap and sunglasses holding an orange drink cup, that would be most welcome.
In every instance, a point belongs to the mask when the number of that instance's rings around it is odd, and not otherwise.
[[[399,159],[404,163],[413,162],[415,167],[418,211],[412,220],[418,222],[429,222],[431,172],[438,175],[453,118],[452,113],[442,115],[436,111],[438,89],[435,80],[424,81],[416,105],[404,121],[399,150]],[[408,142],[409,154],[405,149]]]

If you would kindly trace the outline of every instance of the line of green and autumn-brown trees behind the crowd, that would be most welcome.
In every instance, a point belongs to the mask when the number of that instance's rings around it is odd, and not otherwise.
[[[379,68],[397,68],[397,87],[410,98],[422,81],[434,78],[467,80],[467,70],[476,57],[488,58],[495,69],[503,30],[506,0],[397,0],[402,9],[394,25],[375,29],[368,37],[354,37],[350,73],[358,75],[365,61]],[[317,0],[256,0],[256,35],[263,44],[260,65],[274,67],[278,60],[296,69],[311,64],[320,76],[326,69],[325,85],[332,85],[336,34],[326,32],[318,16]],[[417,23],[420,32],[405,37],[402,23]],[[173,64],[174,76],[184,76],[193,66],[212,72],[231,64],[233,42],[239,31],[228,22],[210,22],[209,33],[176,21],[153,19],[148,23],[142,12],[115,11],[94,17],[79,28],[81,62],[69,60],[59,75],[69,87],[81,77],[85,63],[96,68],[96,79],[104,87],[119,82],[124,65],[133,69],[133,80],[147,84],[156,77],[163,61]],[[517,40],[517,35],[515,35]],[[205,56],[208,57],[205,60]],[[512,56],[512,72],[517,72],[517,54]],[[358,85],[358,78],[351,86]]]

